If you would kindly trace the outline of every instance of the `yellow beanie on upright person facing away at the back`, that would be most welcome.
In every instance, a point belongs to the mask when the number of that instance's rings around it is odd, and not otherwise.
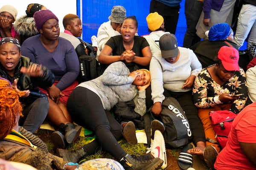
[[[157,12],[148,14],[146,20],[148,23],[148,29],[151,31],[156,31],[163,24],[163,17]]]

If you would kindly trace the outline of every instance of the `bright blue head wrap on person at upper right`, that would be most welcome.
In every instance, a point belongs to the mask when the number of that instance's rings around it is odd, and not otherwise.
[[[231,31],[232,29],[227,23],[215,24],[210,28],[208,38],[210,41],[226,40]]]

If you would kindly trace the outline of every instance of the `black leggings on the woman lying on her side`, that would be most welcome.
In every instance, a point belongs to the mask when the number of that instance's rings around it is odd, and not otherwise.
[[[109,111],[104,110],[101,99],[97,94],[87,88],[77,87],[70,94],[67,109],[78,125],[95,133],[96,140],[89,144],[90,150],[95,152],[100,144],[117,160],[125,156],[125,151],[117,142],[123,137],[122,126]]]

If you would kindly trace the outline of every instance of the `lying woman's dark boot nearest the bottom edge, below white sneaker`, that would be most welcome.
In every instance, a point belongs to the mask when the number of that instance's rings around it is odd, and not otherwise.
[[[131,155],[126,154],[121,160],[120,164],[125,170],[158,170],[163,164],[160,158],[154,158],[147,161],[137,161]]]

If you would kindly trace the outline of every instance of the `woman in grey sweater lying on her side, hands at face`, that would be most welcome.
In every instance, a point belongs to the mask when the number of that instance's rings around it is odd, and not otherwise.
[[[118,160],[126,170],[157,170],[163,164],[159,158],[137,161],[122,149],[117,142],[122,139],[122,126],[111,115],[110,110],[117,102],[132,100],[137,86],[150,82],[148,71],[130,73],[123,62],[114,62],[98,78],[82,82],[71,93],[67,108],[72,118],[81,126],[92,130],[96,140],[79,150],[57,149],[57,155],[67,161],[78,161],[81,157],[95,154],[101,146]]]

